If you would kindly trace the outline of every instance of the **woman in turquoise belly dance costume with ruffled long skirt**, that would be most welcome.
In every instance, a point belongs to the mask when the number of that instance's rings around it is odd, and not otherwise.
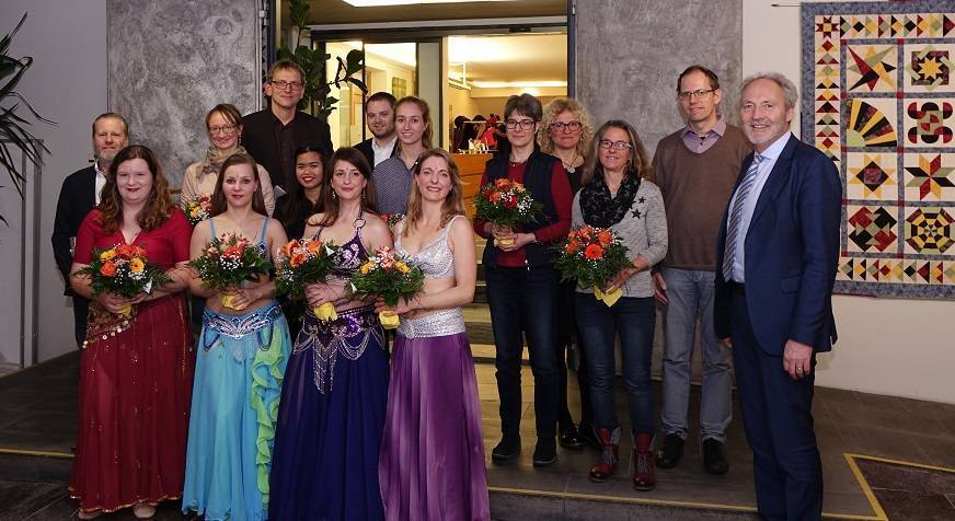
[[[212,194],[212,218],[193,232],[191,257],[214,236],[237,233],[266,254],[286,243],[285,230],[265,215],[255,161],[234,154],[222,163]],[[222,294],[194,277],[189,289],[206,298],[199,336],[186,449],[183,512],[206,521],[264,520],[268,514],[268,470],[281,379],[291,350],[288,325],[273,298],[275,282],[263,277]]]

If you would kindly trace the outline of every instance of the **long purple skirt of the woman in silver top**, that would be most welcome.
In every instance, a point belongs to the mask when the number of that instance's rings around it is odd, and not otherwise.
[[[389,520],[491,519],[467,333],[398,335],[378,482]]]

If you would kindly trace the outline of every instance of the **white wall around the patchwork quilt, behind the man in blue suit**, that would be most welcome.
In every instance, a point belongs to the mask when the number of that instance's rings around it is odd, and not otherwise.
[[[775,70],[798,85],[799,9],[773,1],[746,0],[743,73]],[[955,302],[837,296],[833,305],[839,341],[820,358],[818,385],[955,403]]]

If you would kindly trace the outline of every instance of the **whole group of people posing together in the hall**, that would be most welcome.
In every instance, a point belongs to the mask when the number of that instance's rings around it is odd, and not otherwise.
[[[464,212],[455,161],[433,148],[428,104],[375,93],[372,137],[331,152],[327,126],[297,112],[302,76],[277,62],[271,106],[241,117],[217,105],[211,146],[183,178],[183,202],[211,196],[211,218],[193,230],[169,195],[149,149],[127,146],[116,114],[93,124],[96,161],[64,184],[54,250],[74,294],[84,347],[71,493],[80,517],[182,498],[206,519],[488,519],[481,410],[461,306],[476,278],[473,234],[488,239],[483,266],[496,348],[500,439],[491,459],[521,452],[521,351],[533,374],[534,466],[557,445],[599,451],[594,482],[614,474],[617,340],[632,437],[634,488],[656,485],[689,438],[690,366],[703,355],[703,466],[725,474],[735,366],[757,497],[768,518],[818,518],[821,468],[812,420],[815,356],[835,341],[830,294],[841,187],[832,163],[789,130],[796,91],[786,78],[745,80],[741,128],[718,111],[718,78],[684,70],[676,100],[687,126],[651,158],[636,129],[595,126],[572,99],[546,107],[510,96],[506,151],[482,186],[523,184],[541,215],[508,228]],[[241,144],[240,144],[241,143]],[[68,188],[69,187],[69,188]],[[393,229],[379,217],[405,217]],[[274,219],[269,216],[274,216]],[[572,228],[612,230],[631,264],[607,285],[562,283],[555,246]],[[226,292],[222,305],[185,265],[212,238],[249,238],[268,255],[288,238],[341,245],[334,276],[306,287],[291,329],[275,282]],[[74,240],[74,251],[70,251]],[[148,294],[93,296],[76,274],[94,246],[136,244],[168,269]],[[388,308],[348,291],[350,274],[389,246],[425,274],[424,289]],[[193,341],[185,290],[204,304]],[[204,301],[204,302],[203,302]],[[89,311],[80,309],[89,303]],[[117,314],[133,305],[130,316]],[[665,316],[664,438],[651,360],[657,305]],[[387,349],[379,312],[401,316]],[[89,321],[87,321],[89,317]],[[567,406],[568,345],[576,344],[580,424]],[[573,363],[571,363],[573,364]]]

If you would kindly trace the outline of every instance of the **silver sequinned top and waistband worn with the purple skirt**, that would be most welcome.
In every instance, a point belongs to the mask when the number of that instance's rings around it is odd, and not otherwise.
[[[426,279],[439,279],[455,276],[455,254],[448,245],[448,233],[455,219],[464,216],[455,216],[445,224],[440,236],[430,244],[425,245],[417,254],[411,255],[401,244],[401,235],[404,231],[405,221],[394,227],[394,251],[400,255],[407,255],[413,263],[422,268]],[[441,310],[419,319],[402,319],[398,325],[398,332],[405,338],[423,338],[435,336],[456,335],[464,333],[464,315],[461,308]]]

